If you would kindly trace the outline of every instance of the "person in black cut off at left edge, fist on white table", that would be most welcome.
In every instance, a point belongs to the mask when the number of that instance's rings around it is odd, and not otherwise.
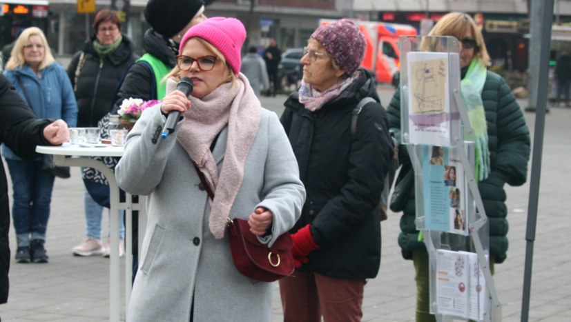
[[[0,68],[1,70],[1,68]],[[19,93],[0,74],[0,143],[6,145],[23,159],[38,157],[36,145],[60,145],[68,141],[66,122],[59,119],[37,119]],[[10,270],[10,205],[8,205],[8,182],[4,166],[0,169],[0,304],[8,301],[8,272]]]

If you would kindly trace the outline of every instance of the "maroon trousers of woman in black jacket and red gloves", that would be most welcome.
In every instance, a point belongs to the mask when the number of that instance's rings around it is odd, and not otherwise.
[[[365,283],[296,271],[280,279],[284,322],[360,322]]]

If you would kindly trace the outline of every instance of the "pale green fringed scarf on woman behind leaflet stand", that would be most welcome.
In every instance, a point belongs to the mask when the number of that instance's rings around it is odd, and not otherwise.
[[[490,174],[490,150],[488,148],[487,124],[482,101],[482,90],[486,80],[486,68],[481,59],[473,59],[466,76],[460,82],[462,99],[468,112],[472,137],[476,145],[476,180],[482,181]]]

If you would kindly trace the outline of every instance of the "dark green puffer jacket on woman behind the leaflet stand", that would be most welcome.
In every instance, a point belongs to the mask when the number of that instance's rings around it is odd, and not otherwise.
[[[464,77],[465,69],[462,71]],[[530,159],[530,131],[525,125],[523,113],[510,86],[494,72],[487,72],[482,92],[487,134],[490,148],[490,177],[478,184],[487,217],[490,218],[490,254],[496,263],[502,263],[507,257],[507,208],[503,185],[523,185],[527,178]],[[400,139],[400,90],[397,90],[387,108],[389,128]],[[412,172],[412,165],[406,148],[399,149],[399,158],[403,169],[396,181],[391,200],[391,210],[403,212],[400,218],[398,245],[405,259],[412,259],[412,252],[424,248],[418,241],[418,230],[414,223],[415,201],[414,183],[403,179]],[[414,176],[409,175],[409,179]]]

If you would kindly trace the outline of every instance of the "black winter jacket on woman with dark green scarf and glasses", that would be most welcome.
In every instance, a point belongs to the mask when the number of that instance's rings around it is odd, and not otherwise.
[[[79,63],[81,52],[85,52],[85,63],[77,78],[77,126],[97,127],[99,121],[111,108],[113,108],[113,94],[117,83],[123,74],[138,58],[133,53],[133,43],[123,35],[119,47],[101,61],[101,58],[93,49],[95,35],[87,40],[84,48],[75,53],[68,66],[68,77],[71,85],[75,88],[75,71]]]

